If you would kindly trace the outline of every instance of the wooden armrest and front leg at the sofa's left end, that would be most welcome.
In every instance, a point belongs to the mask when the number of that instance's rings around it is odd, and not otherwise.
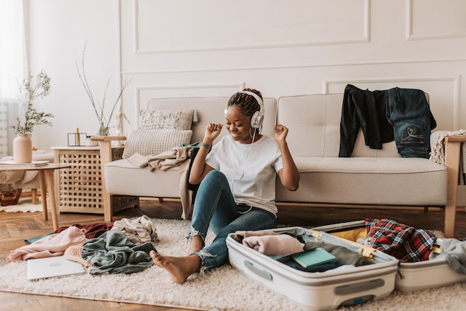
[[[91,140],[99,142],[101,148],[101,178],[102,178],[102,204],[103,204],[103,220],[106,222],[112,221],[112,206],[110,205],[110,196],[107,194],[105,185],[105,165],[112,161],[112,141],[126,140],[125,136],[92,136]]]

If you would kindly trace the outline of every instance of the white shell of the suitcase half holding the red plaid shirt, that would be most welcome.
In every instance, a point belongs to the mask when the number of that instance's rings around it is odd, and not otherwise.
[[[318,226],[313,229],[351,240],[355,240],[354,237],[357,235],[354,233],[356,231],[367,235],[364,220]],[[438,238],[433,251],[440,252],[441,244],[442,239]],[[464,281],[466,281],[466,274],[458,274],[454,269],[451,269],[445,258],[438,258],[419,262],[399,262],[395,288],[403,292],[410,292]]]

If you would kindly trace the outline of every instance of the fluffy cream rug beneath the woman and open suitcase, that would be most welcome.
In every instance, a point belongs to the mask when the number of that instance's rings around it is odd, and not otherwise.
[[[166,255],[184,255],[189,221],[154,219],[154,222],[159,237],[157,250]],[[130,275],[85,274],[28,281],[26,262],[12,262],[0,267],[0,290],[196,310],[300,310],[230,265],[191,276],[183,285],[177,285],[171,283],[164,269],[155,266]],[[411,293],[395,291],[386,299],[338,310],[463,310],[465,292],[466,283]]]

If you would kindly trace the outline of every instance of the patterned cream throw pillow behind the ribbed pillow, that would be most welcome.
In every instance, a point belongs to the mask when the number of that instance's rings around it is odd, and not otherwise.
[[[190,130],[193,123],[194,110],[141,110],[139,128],[157,130],[173,128],[175,130]]]

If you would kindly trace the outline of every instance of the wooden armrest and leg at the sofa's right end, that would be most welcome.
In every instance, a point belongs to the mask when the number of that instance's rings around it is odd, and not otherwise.
[[[466,136],[445,137],[445,167],[447,167],[447,205],[445,205],[445,237],[454,237],[456,196],[458,194],[458,174],[461,143]]]

